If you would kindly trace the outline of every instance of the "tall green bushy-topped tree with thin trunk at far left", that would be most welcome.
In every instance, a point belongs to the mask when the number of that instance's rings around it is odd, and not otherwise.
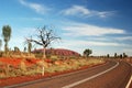
[[[4,44],[4,52],[7,53],[8,52],[8,42],[10,41],[10,37],[11,37],[11,26],[9,25],[4,25],[2,28],[2,36],[3,36],[3,41],[6,42]]]

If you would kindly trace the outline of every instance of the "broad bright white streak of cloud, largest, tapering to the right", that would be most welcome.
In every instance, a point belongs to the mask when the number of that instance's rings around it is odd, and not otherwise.
[[[90,25],[85,23],[73,23],[69,22],[69,25],[63,26],[62,29],[67,31],[65,35],[73,36],[100,36],[106,34],[124,34],[125,31],[121,29],[113,28],[102,28],[97,25]]]

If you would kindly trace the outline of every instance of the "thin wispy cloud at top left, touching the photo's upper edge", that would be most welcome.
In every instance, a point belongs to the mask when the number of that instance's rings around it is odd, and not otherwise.
[[[33,3],[33,2],[28,2],[25,0],[19,0],[21,4],[31,8],[32,10],[35,10],[35,12],[44,14],[46,13],[50,9],[40,4],[40,3]]]

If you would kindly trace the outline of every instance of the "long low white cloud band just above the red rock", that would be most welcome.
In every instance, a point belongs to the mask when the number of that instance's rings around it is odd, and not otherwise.
[[[112,46],[112,47],[120,47],[120,46],[128,46],[127,44],[121,44],[117,42],[97,42],[97,41],[86,41],[86,40],[63,40],[62,43],[53,44],[54,47],[59,47],[59,48],[72,48],[72,50],[79,50],[81,51],[82,48],[86,47],[97,47],[100,46],[103,48],[103,46]]]

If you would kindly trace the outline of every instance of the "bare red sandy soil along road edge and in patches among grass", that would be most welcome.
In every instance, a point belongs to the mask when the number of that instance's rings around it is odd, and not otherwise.
[[[36,63],[38,59],[33,59],[32,62]],[[9,64],[18,66],[20,64],[21,59],[19,59],[19,58],[18,59],[0,58],[0,62],[4,62],[4,63],[8,62]],[[29,62],[25,62],[25,63],[28,65],[32,65]],[[82,66],[81,68],[76,69],[76,70],[86,69],[88,67],[91,67],[91,66]],[[65,72],[61,72],[61,73],[53,73],[53,74],[45,73],[44,76],[42,76],[40,74],[40,75],[33,75],[33,76],[20,76],[20,77],[3,78],[3,79],[0,79],[0,87],[15,85],[15,84],[21,84],[21,82],[26,82],[26,81],[36,80],[36,79],[40,79],[40,78],[46,78],[46,77],[51,77],[51,76],[57,76],[57,75],[67,74],[67,73],[76,72],[76,70],[75,69],[70,69],[70,70],[65,70]]]

